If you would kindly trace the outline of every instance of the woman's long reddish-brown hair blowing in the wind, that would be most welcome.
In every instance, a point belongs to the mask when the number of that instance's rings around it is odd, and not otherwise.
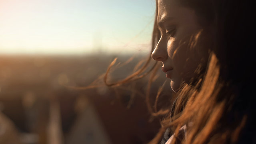
[[[197,77],[192,78],[189,84],[183,83],[180,90],[174,95],[176,102],[172,109],[156,112],[146,98],[148,109],[153,116],[167,114],[161,122],[162,128],[150,144],[160,142],[164,131],[170,128],[174,134],[173,144],[223,144],[223,143],[252,143],[255,134],[254,122],[255,91],[251,77],[254,76],[252,67],[255,65],[252,48],[255,34],[255,18],[252,6],[235,0],[180,0],[183,6],[192,8],[198,15],[198,21],[203,29],[194,34],[188,44],[190,48],[196,48],[200,42],[204,42],[205,36],[210,35],[210,41],[200,46],[209,49],[208,64],[201,68]],[[156,0],[156,5],[157,5]],[[156,8],[156,15],[157,15]],[[246,35],[246,32],[252,31]],[[152,49],[154,50],[160,32],[154,22]],[[138,80],[150,74],[148,83],[149,95],[152,78],[158,68],[157,63],[147,72],[150,58],[141,69],[124,80],[109,84],[105,75],[105,83],[108,86]],[[160,89],[161,91],[161,89]],[[187,126],[186,136],[179,137],[179,130]],[[255,141],[254,141],[255,142]]]

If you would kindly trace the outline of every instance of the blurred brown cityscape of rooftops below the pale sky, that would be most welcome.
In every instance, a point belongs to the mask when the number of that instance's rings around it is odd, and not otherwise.
[[[120,56],[126,62],[132,56]],[[2,55],[0,144],[146,144],[160,128],[148,112],[148,77],[133,87],[108,88],[103,76],[114,55]],[[145,56],[116,69],[111,80],[133,72]],[[118,63],[117,62],[117,63]],[[155,78],[152,102],[164,74]],[[80,87],[93,86],[81,89]],[[98,86],[97,86],[98,84]],[[136,86],[134,86],[136,85]],[[140,94],[134,94],[134,90]],[[170,85],[161,98],[169,102]],[[167,99],[166,99],[167,98]],[[160,101],[161,105],[161,101]],[[162,104],[164,105],[164,104]]]

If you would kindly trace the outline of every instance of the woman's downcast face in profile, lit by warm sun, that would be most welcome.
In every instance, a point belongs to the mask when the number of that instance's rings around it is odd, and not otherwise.
[[[172,90],[177,91],[182,81],[188,83],[195,77],[199,64],[206,65],[206,49],[191,48],[190,42],[202,26],[194,10],[183,7],[176,0],[158,0],[158,28],[161,38],[152,58],[162,61],[162,70],[171,80]]]

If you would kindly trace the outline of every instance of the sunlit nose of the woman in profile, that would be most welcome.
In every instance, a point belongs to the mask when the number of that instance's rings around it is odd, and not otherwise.
[[[168,58],[167,53],[167,43],[160,38],[158,41],[158,44],[156,45],[156,48],[151,54],[151,57],[156,61],[164,61]]]

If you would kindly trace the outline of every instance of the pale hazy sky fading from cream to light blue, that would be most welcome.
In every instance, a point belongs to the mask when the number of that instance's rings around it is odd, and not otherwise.
[[[0,54],[149,52],[155,0],[0,0]]]

